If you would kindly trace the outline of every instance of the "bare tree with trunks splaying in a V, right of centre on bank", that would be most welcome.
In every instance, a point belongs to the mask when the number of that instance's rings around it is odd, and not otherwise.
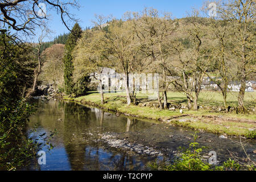
[[[203,77],[208,69],[208,44],[205,36],[204,19],[197,13],[185,19],[180,36],[173,43],[176,59],[176,73],[180,80],[172,81],[177,90],[184,92],[189,109],[197,110]]]

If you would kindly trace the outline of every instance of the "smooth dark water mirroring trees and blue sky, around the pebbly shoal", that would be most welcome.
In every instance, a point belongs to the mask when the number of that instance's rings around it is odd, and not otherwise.
[[[150,127],[150,123],[116,117],[100,109],[68,101],[38,101],[37,104],[38,111],[31,116],[28,127],[32,128],[37,123],[38,128],[30,137],[49,134],[55,129],[58,131],[58,135],[52,140],[55,148],[47,154],[46,166],[37,169],[131,170],[142,169],[151,159],[148,156],[126,154],[108,148],[104,143],[95,142],[100,138],[98,134],[144,130]]]

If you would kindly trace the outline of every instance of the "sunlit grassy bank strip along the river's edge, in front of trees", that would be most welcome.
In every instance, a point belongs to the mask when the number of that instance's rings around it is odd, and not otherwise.
[[[203,107],[198,111],[183,110],[183,114],[176,110],[160,110],[149,107],[147,104],[126,105],[124,93],[106,93],[105,104],[101,104],[99,93],[90,93],[87,96],[71,98],[64,97],[64,100],[75,101],[82,105],[100,107],[119,114],[132,117],[156,119],[169,125],[183,126],[199,131],[209,131],[221,137],[242,136],[246,138],[256,137],[256,114],[236,114],[233,112],[213,111],[210,107]],[[137,96],[139,102],[143,102],[143,95]],[[170,97],[168,97],[169,99]],[[169,100],[168,100],[169,101]],[[170,102],[174,102],[170,100]],[[175,102],[175,104],[177,104]],[[154,105],[154,104],[152,104]],[[209,108],[209,109],[207,109]]]

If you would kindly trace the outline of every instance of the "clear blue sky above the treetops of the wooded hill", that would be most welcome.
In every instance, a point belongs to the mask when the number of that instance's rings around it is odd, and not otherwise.
[[[127,11],[142,11],[144,7],[153,7],[159,11],[171,12],[175,18],[183,18],[192,7],[200,8],[204,0],[80,0],[80,10],[71,9],[71,13],[76,14],[81,21],[80,26],[92,26],[95,14],[110,15],[115,18],[122,18]],[[61,23],[60,17],[51,13],[49,26],[54,34],[52,37],[68,32],[67,28]]]

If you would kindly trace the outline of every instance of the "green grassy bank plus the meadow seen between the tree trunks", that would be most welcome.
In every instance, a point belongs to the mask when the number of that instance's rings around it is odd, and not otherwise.
[[[234,136],[245,136],[255,138],[256,114],[236,114],[218,112],[212,109],[200,109],[198,111],[184,110],[183,114],[179,110],[160,110],[147,106],[127,106],[124,97],[125,93],[106,93],[105,104],[101,104],[99,93],[89,93],[87,96],[78,98],[64,97],[65,100],[80,102],[84,105],[93,105],[104,109],[112,110],[118,113],[129,114],[139,118],[157,119],[159,121],[170,123],[170,125],[189,127],[195,130],[210,131],[215,134],[226,134]],[[247,106],[255,105],[256,93],[246,93],[245,102]],[[140,102],[146,102],[145,94],[138,94],[137,99]],[[214,100],[214,101],[213,101]],[[236,104],[236,93],[230,94],[228,104]],[[168,102],[171,104],[185,105],[185,96],[181,93],[168,93]],[[204,92],[199,98],[201,106],[220,106],[221,95],[217,92]]]

